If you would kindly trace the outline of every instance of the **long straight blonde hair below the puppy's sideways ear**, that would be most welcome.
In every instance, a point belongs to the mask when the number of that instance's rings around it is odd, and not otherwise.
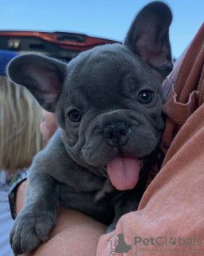
[[[0,170],[29,167],[42,148],[41,107],[23,86],[0,76]]]

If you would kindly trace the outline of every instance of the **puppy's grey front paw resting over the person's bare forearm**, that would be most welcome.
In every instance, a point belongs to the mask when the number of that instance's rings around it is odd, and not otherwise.
[[[54,215],[49,212],[22,210],[10,232],[14,254],[28,254],[37,249],[41,242],[48,241],[54,222]]]

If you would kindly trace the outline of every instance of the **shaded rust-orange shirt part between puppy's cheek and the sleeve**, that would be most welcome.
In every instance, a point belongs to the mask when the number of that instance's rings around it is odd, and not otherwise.
[[[171,91],[163,107],[164,113],[167,114],[166,129],[163,133],[162,142],[155,152],[155,161],[151,166],[147,186],[161,169],[163,159],[175,135],[186,122],[186,119],[190,117],[190,114],[203,102],[203,26],[201,26],[190,47],[182,54],[182,58],[179,58],[174,70],[163,83],[167,94]]]

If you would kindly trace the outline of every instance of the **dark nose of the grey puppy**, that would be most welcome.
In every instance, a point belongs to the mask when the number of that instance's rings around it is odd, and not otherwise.
[[[104,126],[103,136],[110,146],[120,148],[128,142],[129,133],[130,126],[127,122],[116,122]]]

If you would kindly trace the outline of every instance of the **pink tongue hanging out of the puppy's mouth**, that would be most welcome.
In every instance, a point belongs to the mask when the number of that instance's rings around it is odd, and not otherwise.
[[[107,165],[108,176],[117,190],[131,190],[139,179],[139,160],[119,156]]]

